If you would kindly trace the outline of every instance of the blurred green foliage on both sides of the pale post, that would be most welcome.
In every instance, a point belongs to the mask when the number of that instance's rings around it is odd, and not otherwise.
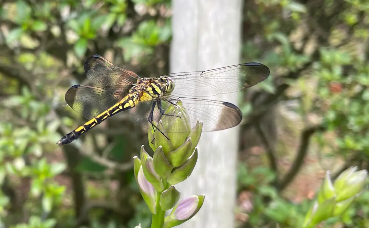
[[[142,129],[122,115],[73,146],[55,142],[83,122],[62,106],[70,86],[89,83],[86,57],[106,56],[142,76],[168,73],[171,1],[6,0],[0,6],[0,226],[148,227],[151,213],[131,164],[148,141]],[[368,169],[368,12],[366,0],[244,1],[242,59],[264,63],[272,77],[250,102],[240,94],[241,138],[272,106],[292,103],[305,128],[300,142],[314,142],[323,160],[341,159],[345,169]],[[254,196],[241,227],[303,221],[312,201],[282,196],[303,164],[300,152],[290,175],[274,170],[273,156],[270,167],[239,169],[240,192]],[[323,225],[364,227],[368,205],[365,192]]]

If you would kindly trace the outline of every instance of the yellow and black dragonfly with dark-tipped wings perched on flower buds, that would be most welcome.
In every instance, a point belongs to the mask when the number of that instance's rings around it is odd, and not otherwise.
[[[165,135],[157,127],[157,121],[168,115],[165,114],[166,107],[177,105],[178,101],[184,107],[190,125],[195,125],[198,120],[203,122],[203,132],[235,127],[242,120],[239,108],[232,103],[206,97],[249,88],[268,78],[270,72],[261,63],[249,62],[206,71],[139,77],[137,73],[116,66],[100,55],[87,58],[84,70],[96,86],[72,86],[66,92],[65,100],[89,121],[63,136],[57,142],[59,146],[75,141],[121,112],[127,113],[130,120],[142,127],[149,128],[151,125],[152,129]],[[173,115],[173,118],[178,116]]]

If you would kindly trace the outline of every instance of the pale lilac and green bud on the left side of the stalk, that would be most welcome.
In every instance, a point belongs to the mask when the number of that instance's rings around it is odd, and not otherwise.
[[[141,192],[142,198],[148,205],[152,214],[156,213],[156,200],[157,194],[154,186],[146,180],[142,166],[139,167],[137,172],[136,181],[138,184],[139,191]]]

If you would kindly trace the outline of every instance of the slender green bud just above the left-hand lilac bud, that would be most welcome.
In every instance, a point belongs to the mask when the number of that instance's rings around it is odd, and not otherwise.
[[[153,159],[146,153],[144,146],[141,146],[141,164],[145,177],[154,187],[156,191],[164,189],[163,182],[159,175],[155,172]]]

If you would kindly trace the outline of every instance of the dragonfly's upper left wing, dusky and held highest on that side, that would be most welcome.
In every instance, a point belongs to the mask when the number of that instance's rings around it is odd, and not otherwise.
[[[85,73],[97,86],[121,87],[137,83],[138,75],[125,68],[115,66],[100,55],[93,55],[85,60]]]

